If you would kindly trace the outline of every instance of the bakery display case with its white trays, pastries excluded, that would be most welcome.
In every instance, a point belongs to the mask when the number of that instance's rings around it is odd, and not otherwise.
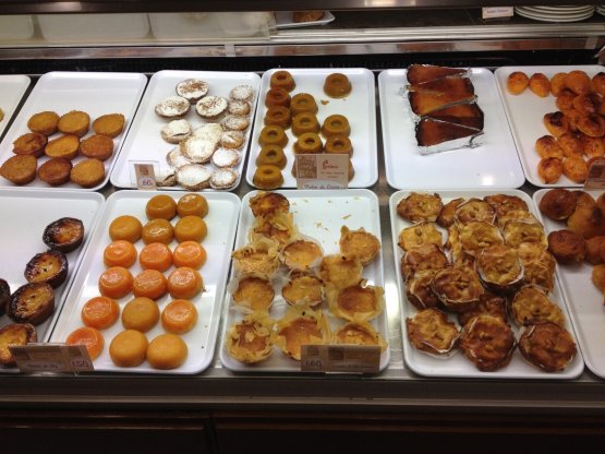
[[[555,108],[555,98],[539,100],[530,93],[512,97],[504,88],[513,70],[549,77],[572,69],[591,76],[603,71],[602,7],[594,5],[589,15],[583,2],[558,3],[548,2],[542,11],[532,10],[531,2],[515,1],[515,15],[483,19],[482,8],[500,5],[307,0],[305,10],[322,14],[297,19],[293,12],[301,5],[273,0],[254,5],[209,1],[203,12],[191,1],[0,1],[1,162],[12,155],[13,141],[27,132],[27,119],[37,111],[62,115],[82,109],[93,120],[114,111],[125,116],[123,133],[113,139],[114,154],[105,162],[106,179],[98,184],[84,190],[74,183],[49,188],[35,180],[15,188],[0,181],[0,204],[11,222],[8,238],[0,241],[9,250],[0,270],[12,280],[23,280],[13,263],[21,253],[13,251],[20,240],[27,241],[27,254],[41,250],[37,231],[41,235],[44,226],[68,216],[72,207],[89,227],[89,242],[72,253],[74,265],[50,322],[53,330],[40,330],[38,338],[63,342],[80,326],[80,304],[93,297],[105,267],[101,255],[111,242],[107,228],[112,218],[132,212],[144,219],[145,203],[153,195],[178,201],[185,193],[185,180],[170,188],[159,184],[157,192],[135,189],[133,164],[152,163],[164,175],[167,169],[160,167],[174,147],[159,134],[169,120],[157,117],[155,106],[186,77],[206,77],[225,97],[237,85],[255,92],[235,182],[201,192],[216,211],[207,219],[208,241],[202,242],[208,251],[205,266],[211,267],[202,268],[202,274],[211,292],[196,301],[204,310],[198,310],[198,325],[185,339],[193,362],[177,373],[147,365],[124,370],[104,354],[92,373],[22,374],[2,369],[0,426],[7,443],[28,437],[44,452],[44,437],[53,442],[68,437],[74,446],[85,442],[93,452],[101,447],[90,441],[106,439],[116,446],[138,443],[154,450],[230,453],[268,435],[293,452],[302,452],[294,446],[311,439],[351,452],[361,452],[364,440],[377,449],[406,443],[437,452],[435,440],[462,443],[470,434],[496,441],[496,451],[498,443],[509,449],[510,438],[525,446],[552,449],[602,441],[605,349],[598,321],[605,315],[586,263],[581,268],[559,265],[552,289],[579,347],[562,372],[531,366],[519,351],[500,371],[480,371],[461,354],[445,360],[426,356],[406,337],[404,320],[416,309],[406,296],[398,243],[410,224],[398,217],[396,206],[409,193],[439,193],[444,201],[518,195],[542,222],[545,236],[564,226],[537,210],[550,188],[537,176],[539,159],[532,154],[532,142],[546,134],[540,117]],[[558,10],[570,15],[556,16],[557,7],[571,9]],[[545,14],[536,16],[540,12]],[[412,153],[419,144],[402,95],[412,63],[471,69],[485,115],[477,146],[463,153]],[[258,186],[254,176],[267,111],[265,92],[279,70],[290,71],[300,89],[320,101],[320,121],[342,113],[351,124],[351,189],[308,194],[297,190],[292,156],[287,154],[285,180],[276,191],[290,198],[300,232],[317,240],[326,253],[338,251],[342,225],[351,230],[363,227],[380,239],[378,262],[363,274],[384,290],[384,312],[373,324],[388,348],[377,373],[301,372],[299,363],[277,348],[264,366],[244,365],[228,354],[227,333],[243,314],[231,298],[237,282],[226,259],[233,248],[247,243],[247,230],[254,226],[247,204]],[[350,101],[323,93],[325,77],[337,72],[353,82],[356,92]],[[196,127],[206,123],[193,110],[187,116],[199,122]],[[288,134],[291,145],[297,136]],[[218,163],[214,170],[221,168]],[[566,177],[554,186],[582,188]],[[600,195],[591,193],[594,199]],[[280,303],[277,309],[282,311]],[[329,320],[332,326],[338,325],[335,320]]]

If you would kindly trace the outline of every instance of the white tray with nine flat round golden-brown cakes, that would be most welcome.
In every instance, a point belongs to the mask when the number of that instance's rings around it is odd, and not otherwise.
[[[138,73],[44,74],[0,143],[0,188],[102,188],[146,83]]]

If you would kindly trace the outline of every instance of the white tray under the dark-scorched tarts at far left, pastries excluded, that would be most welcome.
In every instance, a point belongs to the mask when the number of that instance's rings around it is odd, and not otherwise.
[[[43,241],[47,225],[61,217],[75,217],[84,224],[84,241],[80,248],[66,253],[68,277],[55,289],[55,313],[46,322],[36,326],[38,342],[50,337],[71,285],[90,242],[105,199],[97,192],[74,192],[65,190],[40,191],[9,189],[0,191],[2,207],[2,235],[0,235],[0,278],[7,280],[14,292],[27,284],[23,273],[27,262],[48,247]],[[0,326],[13,323],[8,315],[0,318]],[[15,368],[0,368],[2,372],[16,372]]]

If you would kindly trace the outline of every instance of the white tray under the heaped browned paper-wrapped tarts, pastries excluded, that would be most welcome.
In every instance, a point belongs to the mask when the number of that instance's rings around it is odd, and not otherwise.
[[[412,303],[408,301],[406,297],[406,284],[403,283],[403,279],[401,277],[401,250],[397,244],[399,232],[403,228],[411,225],[411,223],[402,219],[397,215],[397,204],[401,201],[401,199],[408,196],[410,192],[411,191],[398,191],[395,192],[389,199],[395,267],[397,274],[397,285],[399,288],[399,298],[401,302],[401,333],[403,337],[403,358],[410,369],[420,375],[433,378],[570,380],[579,377],[584,368],[584,362],[580,348],[578,348],[578,353],[576,354],[576,357],[573,358],[571,363],[562,372],[558,373],[548,373],[536,368],[535,366],[530,365],[523,359],[518,349],[516,349],[516,351],[512,354],[511,361],[508,366],[494,372],[482,372],[476,369],[469,359],[464,357],[462,351],[456,351],[451,357],[448,358],[437,358],[435,356],[422,353],[411,345],[407,335],[406,319],[413,316],[418,312],[418,310]],[[533,206],[532,199],[524,192],[513,189],[499,191],[436,190],[426,192],[438,193],[441,196],[441,201],[444,202],[444,204],[456,198],[483,198],[489,194],[517,195],[528,204],[530,211],[533,214],[536,214],[536,210]],[[447,238],[447,232],[445,232],[445,230],[443,229],[441,231],[444,232],[445,240]],[[561,289],[559,288],[558,277],[555,280],[555,288],[548,295],[548,298],[561,308],[567,320],[566,328],[571,333],[573,337],[577,338],[573,330],[573,321],[569,315],[569,310],[564,299]],[[452,316],[451,314],[449,314],[448,318],[450,321],[453,321],[456,323],[458,322],[456,320],[456,316]],[[509,323],[513,332],[516,332],[516,337],[518,339],[518,330],[515,322],[510,321]]]

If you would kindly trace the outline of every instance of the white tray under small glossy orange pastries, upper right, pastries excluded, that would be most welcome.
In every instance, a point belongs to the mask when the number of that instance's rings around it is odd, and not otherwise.
[[[532,74],[541,72],[547,77],[552,77],[558,72],[569,72],[572,70],[585,71],[592,77],[594,74],[603,71],[604,67],[597,64],[591,65],[560,65],[560,67],[501,67],[495,71],[498,92],[504,103],[508,123],[512,131],[512,138],[519,152],[519,158],[523,166],[523,171],[528,181],[541,188],[553,187],[581,187],[574,183],[565,175],[553,184],[546,184],[537,175],[537,164],[540,155],[535,152],[535,141],[543,135],[548,134],[543,123],[545,113],[558,110],[555,104],[555,97],[548,95],[541,98],[529,88],[520,95],[511,95],[506,88],[507,77],[515,71],[522,71],[531,77]]]

